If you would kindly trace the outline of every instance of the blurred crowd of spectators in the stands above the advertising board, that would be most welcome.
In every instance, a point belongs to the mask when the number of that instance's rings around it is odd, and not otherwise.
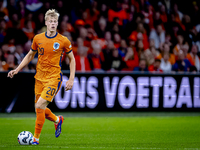
[[[77,71],[200,72],[197,0],[0,0],[0,71],[16,68],[46,31],[50,8],[60,13],[58,32],[72,43]]]

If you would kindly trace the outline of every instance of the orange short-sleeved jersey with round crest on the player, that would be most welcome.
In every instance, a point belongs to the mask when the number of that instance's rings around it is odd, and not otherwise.
[[[33,38],[31,49],[38,52],[35,78],[46,82],[61,77],[63,53],[70,53],[72,45],[67,37],[59,33],[54,37],[48,37],[46,32],[43,32]]]

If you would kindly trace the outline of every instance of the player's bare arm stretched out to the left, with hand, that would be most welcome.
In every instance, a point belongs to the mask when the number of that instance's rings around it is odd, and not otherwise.
[[[33,60],[35,54],[37,53],[37,51],[32,51],[30,50],[28,52],[28,54],[24,57],[24,59],[22,60],[22,62],[19,64],[19,66],[14,69],[14,70],[11,70],[9,73],[8,73],[8,77],[10,78],[13,78],[13,76],[15,74],[17,74],[22,68],[24,68],[26,65],[28,65],[28,63]]]

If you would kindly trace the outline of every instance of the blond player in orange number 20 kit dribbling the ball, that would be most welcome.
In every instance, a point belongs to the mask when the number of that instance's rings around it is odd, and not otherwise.
[[[56,116],[47,105],[52,102],[62,84],[61,59],[65,52],[70,60],[70,77],[66,81],[65,90],[72,89],[75,76],[75,59],[72,53],[72,45],[67,37],[57,33],[59,13],[50,9],[45,14],[45,25],[47,31],[37,34],[33,38],[31,50],[15,70],[8,73],[13,78],[23,67],[25,67],[38,52],[38,62],[35,74],[35,132],[33,145],[39,144],[45,118],[53,121],[55,125],[55,136],[59,137],[63,116]]]

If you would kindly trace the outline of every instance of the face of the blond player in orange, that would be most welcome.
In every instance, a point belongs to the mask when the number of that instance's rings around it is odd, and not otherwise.
[[[58,19],[56,17],[48,17],[46,22],[47,30],[50,32],[54,32],[57,30]]]

